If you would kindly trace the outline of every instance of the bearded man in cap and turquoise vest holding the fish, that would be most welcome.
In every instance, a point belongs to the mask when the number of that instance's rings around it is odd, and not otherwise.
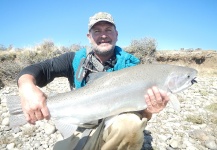
[[[28,66],[20,72],[19,93],[29,123],[50,118],[47,97],[37,86],[43,87],[55,77],[63,76],[68,78],[71,88],[77,89],[85,86],[91,73],[116,71],[139,63],[136,57],[116,46],[118,31],[110,14],[99,12],[90,17],[88,30],[91,49],[66,53]],[[120,114],[106,128],[105,119],[92,124],[91,130],[85,130],[87,127],[84,125],[80,128],[83,133],[78,130],[70,138],[58,142],[54,149],[141,149],[146,119],[160,112],[169,101],[167,94],[157,87],[150,87],[145,93],[147,109]]]

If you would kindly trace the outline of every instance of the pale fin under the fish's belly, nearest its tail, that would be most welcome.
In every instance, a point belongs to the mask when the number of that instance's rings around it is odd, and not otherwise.
[[[61,119],[55,120],[54,123],[56,128],[60,131],[64,139],[70,137],[78,128],[77,125],[66,123],[65,120],[61,120]]]

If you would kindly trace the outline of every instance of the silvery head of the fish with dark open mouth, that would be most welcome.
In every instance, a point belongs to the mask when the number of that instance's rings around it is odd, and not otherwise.
[[[177,93],[197,83],[197,70],[188,67],[177,67],[167,78],[166,86],[169,92]]]

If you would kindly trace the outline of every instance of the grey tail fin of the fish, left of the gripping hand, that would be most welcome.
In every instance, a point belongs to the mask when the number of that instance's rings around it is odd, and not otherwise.
[[[10,127],[17,127],[27,123],[18,96],[8,96],[7,107],[10,113]]]

